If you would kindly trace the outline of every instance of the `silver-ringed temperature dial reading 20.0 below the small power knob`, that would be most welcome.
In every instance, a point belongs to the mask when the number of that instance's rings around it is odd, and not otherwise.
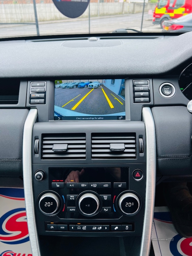
[[[46,193],[39,199],[39,209],[46,215],[52,215],[60,207],[60,199],[53,193]]]

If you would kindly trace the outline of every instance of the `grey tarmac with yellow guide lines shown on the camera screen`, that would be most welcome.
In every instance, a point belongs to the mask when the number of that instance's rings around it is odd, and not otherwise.
[[[55,105],[88,115],[108,115],[125,111],[124,99],[104,85],[94,89],[55,89]]]

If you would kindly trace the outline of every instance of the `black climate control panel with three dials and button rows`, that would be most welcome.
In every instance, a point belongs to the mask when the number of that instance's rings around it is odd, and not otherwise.
[[[36,179],[40,170],[44,173],[43,180]],[[61,236],[78,236],[81,232],[139,234],[138,227],[141,231],[143,225],[145,186],[144,164],[134,169],[36,169],[37,227],[41,227],[40,233]]]

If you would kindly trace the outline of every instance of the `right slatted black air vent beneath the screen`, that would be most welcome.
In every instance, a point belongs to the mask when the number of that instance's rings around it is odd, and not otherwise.
[[[117,145],[113,150],[110,145]],[[122,151],[122,144],[124,149]],[[92,133],[92,159],[135,159],[135,133]]]

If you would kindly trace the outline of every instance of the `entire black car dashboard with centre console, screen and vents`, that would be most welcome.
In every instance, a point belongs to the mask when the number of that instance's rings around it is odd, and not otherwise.
[[[86,243],[119,237],[125,255],[149,255],[156,183],[192,177],[191,38],[0,42],[1,183],[23,178],[33,256],[73,255],[69,247],[80,239],[79,253],[90,255]],[[87,84],[56,88],[56,81]],[[92,115],[71,117],[78,107]],[[103,115],[107,108],[115,112]]]

